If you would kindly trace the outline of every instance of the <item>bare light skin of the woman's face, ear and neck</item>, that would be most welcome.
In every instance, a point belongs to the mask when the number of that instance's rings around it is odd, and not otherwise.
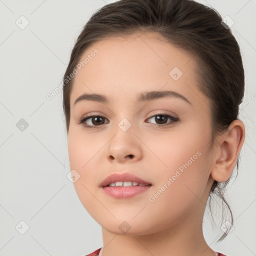
[[[80,177],[74,182],[77,195],[88,213],[102,226],[103,250],[99,255],[213,256],[202,233],[202,218],[213,179],[230,176],[244,141],[244,125],[234,120],[228,130],[211,143],[210,100],[198,89],[193,56],[155,33],[109,37],[85,50],[81,60],[99,52],[75,75],[70,94],[68,154],[70,169]],[[173,67],[182,71],[174,80]],[[173,90],[177,97],[135,102],[139,92]],[[75,99],[83,93],[99,93],[109,104]],[[93,113],[103,116],[85,128],[77,123]],[[163,127],[151,116],[166,113]],[[127,131],[118,123],[126,118]],[[163,122],[164,124],[164,122]],[[165,191],[149,201],[169,177],[196,152],[192,161]],[[133,157],[129,157],[133,155]],[[99,183],[113,172],[131,172],[152,186],[135,196],[117,199],[104,193]],[[126,221],[130,229],[118,226]]]

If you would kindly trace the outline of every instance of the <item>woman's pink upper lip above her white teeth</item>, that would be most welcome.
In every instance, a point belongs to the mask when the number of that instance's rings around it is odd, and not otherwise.
[[[120,174],[119,173],[110,174],[99,184],[99,186],[107,186],[108,184],[116,181],[135,181],[141,184],[151,185],[150,182],[147,182],[132,173],[124,172]]]

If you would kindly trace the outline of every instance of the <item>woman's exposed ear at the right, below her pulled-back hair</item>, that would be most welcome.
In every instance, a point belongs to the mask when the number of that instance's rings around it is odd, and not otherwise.
[[[241,120],[230,123],[228,129],[217,138],[217,147],[214,149],[214,162],[211,177],[218,181],[226,181],[234,168],[238,154],[245,137],[245,128]]]

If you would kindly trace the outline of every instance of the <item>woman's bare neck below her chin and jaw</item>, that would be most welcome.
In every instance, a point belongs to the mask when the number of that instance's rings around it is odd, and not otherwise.
[[[215,256],[204,240],[202,218],[197,222],[194,219],[180,219],[178,225],[144,235],[120,235],[102,227],[103,249],[99,256]]]

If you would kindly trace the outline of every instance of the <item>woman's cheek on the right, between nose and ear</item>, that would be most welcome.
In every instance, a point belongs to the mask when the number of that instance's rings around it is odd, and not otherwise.
[[[164,191],[165,195],[157,199],[159,203],[166,200],[179,205],[182,202],[185,207],[186,202],[202,195],[209,178],[211,151],[206,145],[210,141],[210,129],[194,121],[164,133],[152,135],[147,144],[158,156],[148,159],[149,166],[160,168],[153,192]]]

